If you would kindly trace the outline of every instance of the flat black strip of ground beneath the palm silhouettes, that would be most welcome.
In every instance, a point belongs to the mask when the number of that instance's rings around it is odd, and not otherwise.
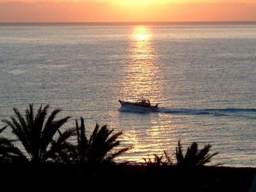
[[[129,164],[0,164],[1,187],[58,191],[248,192],[255,168],[150,167]],[[33,187],[33,186],[36,186]]]

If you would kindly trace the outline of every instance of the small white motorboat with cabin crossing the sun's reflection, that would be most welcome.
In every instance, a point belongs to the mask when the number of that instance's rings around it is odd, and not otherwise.
[[[134,107],[136,109],[141,109],[141,111],[158,111],[158,104],[152,106],[150,104],[149,99],[138,99],[136,102],[132,101],[124,101],[124,100],[118,100],[120,102],[122,107]]]

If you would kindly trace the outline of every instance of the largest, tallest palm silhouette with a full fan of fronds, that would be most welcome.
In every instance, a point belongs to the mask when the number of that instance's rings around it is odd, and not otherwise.
[[[56,115],[61,111],[55,109],[46,119],[48,109],[49,105],[44,108],[41,105],[35,115],[33,104],[29,104],[25,116],[22,116],[18,109],[13,108],[15,117],[11,117],[11,120],[3,120],[7,126],[12,128],[13,133],[28,152],[29,157],[26,156],[26,159],[33,163],[42,163],[47,159],[57,159],[56,156],[61,148],[65,147],[67,138],[72,136],[72,132],[74,132],[74,130],[67,130],[62,134],[60,127],[67,122],[70,116],[55,120]],[[59,132],[60,136],[57,140],[54,140],[56,132]],[[6,144],[8,144],[6,147],[11,147],[10,143]],[[25,157],[18,148],[15,148],[15,151],[20,157]]]

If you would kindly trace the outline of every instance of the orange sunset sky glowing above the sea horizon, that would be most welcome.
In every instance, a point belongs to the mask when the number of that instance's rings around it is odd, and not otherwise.
[[[0,22],[256,21],[256,0],[0,0]]]

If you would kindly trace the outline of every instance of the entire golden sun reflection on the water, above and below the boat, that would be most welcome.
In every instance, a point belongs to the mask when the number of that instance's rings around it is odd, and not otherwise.
[[[127,76],[123,81],[121,93],[125,95],[126,100],[135,100],[143,96],[150,99],[152,103],[159,102],[159,98],[163,97],[163,81],[157,65],[157,54],[153,44],[154,34],[148,26],[134,26],[130,38],[127,49],[129,64],[125,68]],[[122,113],[120,115],[125,116]],[[164,145],[173,141],[166,136],[172,132],[170,131],[172,122],[164,122],[164,114],[145,114],[146,117],[140,115],[126,114],[125,116],[128,122],[129,118],[136,118],[138,124],[133,124],[129,130],[125,129],[122,143],[131,144],[133,148],[119,157],[119,161],[124,159],[142,162],[142,157],[147,157],[148,154],[160,154],[163,152]],[[133,122],[132,119],[130,121]],[[118,126],[125,127],[122,124],[123,122],[120,122]],[[140,129],[141,126],[145,129]],[[163,137],[166,138],[164,142]]]

